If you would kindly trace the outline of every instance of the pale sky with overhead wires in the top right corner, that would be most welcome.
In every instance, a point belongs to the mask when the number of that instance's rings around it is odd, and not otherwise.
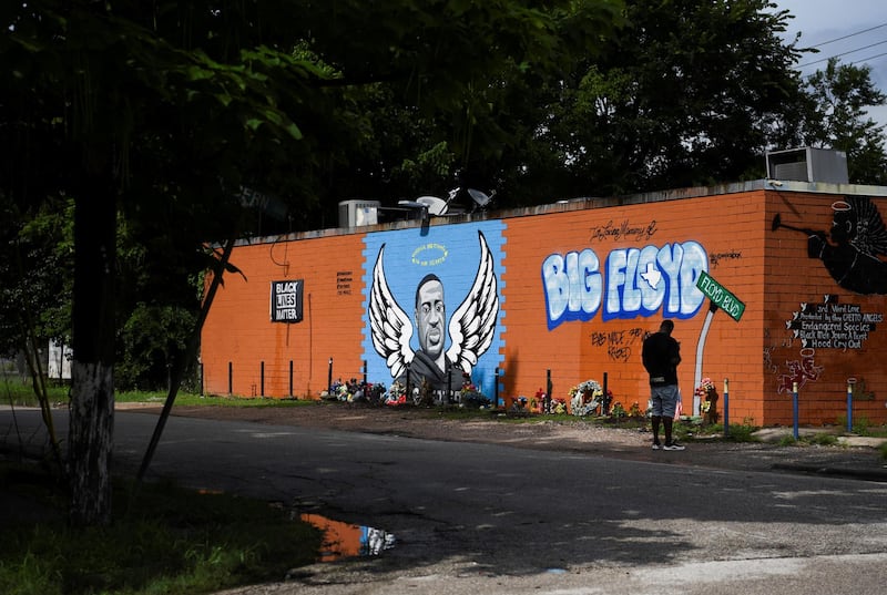
[[[798,47],[816,47],[818,54],[805,54],[802,74],[824,69],[826,60],[871,68],[871,82],[887,94],[887,1],[885,0],[773,0],[778,10],[794,14],[786,37],[802,33]],[[844,38],[844,39],[842,39]],[[887,124],[887,106],[869,110],[879,124]]]

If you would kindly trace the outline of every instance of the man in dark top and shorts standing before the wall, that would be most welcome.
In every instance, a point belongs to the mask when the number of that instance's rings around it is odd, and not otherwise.
[[[642,359],[650,375],[650,393],[653,402],[653,450],[684,450],[672,440],[674,411],[677,407],[677,365],[681,363],[681,346],[672,337],[674,322],[663,320],[659,332],[644,339]],[[665,430],[665,443],[659,441],[659,425]]]

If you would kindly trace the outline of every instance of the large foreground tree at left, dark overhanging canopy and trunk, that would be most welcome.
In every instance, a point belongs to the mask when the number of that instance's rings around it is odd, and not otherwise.
[[[12,157],[0,187],[20,205],[74,203],[71,520],[106,523],[111,513],[115,296],[125,289],[119,216],[143,246],[170,257],[164,266],[218,277],[215,252],[203,246],[256,230],[238,204],[244,188],[274,191],[289,213],[309,214],[290,226],[310,226],[335,208],[336,194],[317,189],[348,166],[345,147],[384,150],[361,112],[364,90],[384,84],[407,112],[430,120],[466,113],[465,152],[475,146],[476,112],[465,109],[472,83],[493,80],[501,64],[554,64],[560,19],[581,8],[602,29],[616,6],[4,3],[0,141]],[[437,136],[428,135],[431,146]]]

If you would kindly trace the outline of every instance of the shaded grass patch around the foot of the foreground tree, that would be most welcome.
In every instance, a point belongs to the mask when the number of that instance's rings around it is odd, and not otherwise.
[[[320,532],[282,509],[173,483],[115,482],[113,521],[75,529],[39,468],[0,462],[0,489],[28,513],[3,527],[6,595],[205,594],[283,579],[315,561]]]

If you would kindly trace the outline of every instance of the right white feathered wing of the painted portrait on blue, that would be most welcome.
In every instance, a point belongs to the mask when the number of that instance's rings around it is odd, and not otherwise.
[[[483,234],[480,238],[480,265],[475,284],[461,305],[450,318],[450,348],[447,358],[466,373],[477,365],[478,358],[492,343],[496,330],[496,318],[499,315],[499,293],[496,274],[492,269],[493,257]]]

